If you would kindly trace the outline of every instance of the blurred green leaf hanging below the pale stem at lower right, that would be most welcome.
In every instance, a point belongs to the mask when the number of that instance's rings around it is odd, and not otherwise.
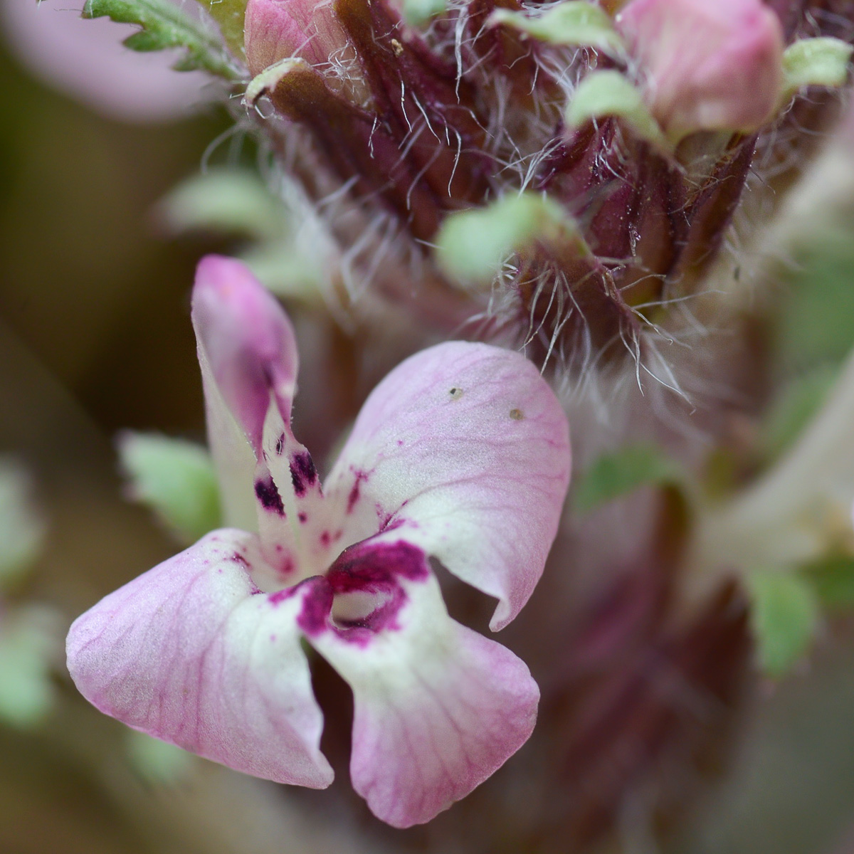
[[[810,648],[819,617],[816,593],[804,576],[786,570],[757,570],[746,583],[759,667],[779,679]]]

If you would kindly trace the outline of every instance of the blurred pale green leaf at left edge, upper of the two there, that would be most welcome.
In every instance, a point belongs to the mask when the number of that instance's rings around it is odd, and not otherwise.
[[[32,505],[30,489],[23,467],[0,457],[0,588],[26,574],[44,539],[44,520]]]

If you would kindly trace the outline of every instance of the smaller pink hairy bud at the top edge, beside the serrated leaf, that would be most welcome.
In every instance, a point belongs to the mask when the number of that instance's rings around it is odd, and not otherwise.
[[[324,64],[348,44],[330,0],[249,0],[243,32],[253,74],[288,56]]]

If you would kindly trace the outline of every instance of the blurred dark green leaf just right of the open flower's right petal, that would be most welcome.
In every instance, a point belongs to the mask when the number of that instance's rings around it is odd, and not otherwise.
[[[679,465],[660,448],[630,445],[603,454],[576,480],[576,510],[589,512],[641,486],[680,481]]]

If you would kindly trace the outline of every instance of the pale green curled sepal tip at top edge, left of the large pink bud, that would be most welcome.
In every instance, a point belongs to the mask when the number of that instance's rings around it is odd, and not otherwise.
[[[604,9],[582,0],[568,0],[549,6],[535,15],[496,9],[489,24],[505,24],[548,44],[591,47],[611,56],[625,53],[623,39]]]

